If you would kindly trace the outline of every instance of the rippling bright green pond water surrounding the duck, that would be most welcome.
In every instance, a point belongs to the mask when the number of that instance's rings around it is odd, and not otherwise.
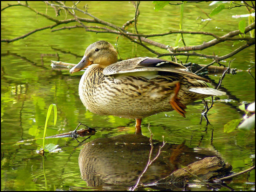
[[[72,5],[71,2],[68,4]],[[88,4],[90,14],[118,26],[132,19],[135,14],[133,5],[128,1],[87,1],[81,2],[79,7],[82,9],[86,4]],[[208,4],[196,5],[209,14],[214,7],[209,7]],[[46,9],[43,2],[29,2],[29,5],[39,12],[45,14],[47,12],[50,16],[55,16],[53,8],[48,6]],[[201,16],[207,19],[207,16],[196,5],[184,5],[183,30],[213,32],[221,36],[238,29],[238,23],[242,19],[234,19],[232,15],[247,13],[245,9],[243,13],[239,11],[241,9],[223,10],[214,16],[213,20],[201,22],[197,18]],[[7,2],[1,1],[1,8],[5,6]],[[155,12],[153,8],[154,5],[150,1],[141,2],[137,27],[139,33],[157,34],[179,30],[179,6],[167,6],[159,12]],[[77,15],[84,16],[80,13]],[[67,18],[71,16],[67,14]],[[66,19],[65,13],[63,12],[58,19]],[[75,24],[77,23],[69,23],[67,26]],[[48,25],[53,25],[53,22],[36,15],[26,7],[10,7],[1,12],[1,39],[13,39]],[[133,26],[129,30],[135,31]],[[210,36],[183,36],[187,46],[211,40]],[[134,133],[134,119],[100,116],[85,109],[78,95],[78,84],[83,72],[70,75],[68,70],[58,71],[50,67],[50,60],[78,63],[89,44],[97,40],[106,40],[115,44],[116,37],[115,34],[85,32],[82,28],[57,32],[47,29],[13,43],[1,43],[1,143],[3,143],[1,145],[1,190],[30,191],[54,190],[55,188],[76,190],[76,187],[82,187],[78,190],[127,190],[125,183],[117,186],[91,186],[84,181],[78,166],[78,156],[83,146],[80,146],[74,139],[47,140],[47,143],[59,145],[64,152],[49,155],[45,159],[45,177],[42,157],[34,153],[42,145],[42,140],[26,142],[29,145],[14,145],[20,140],[43,136],[46,113],[51,103],[57,105],[58,119],[54,126],[53,115],[51,115],[48,121],[47,136],[72,131],[78,125],[78,121],[97,130],[96,134],[86,142],[96,138],[110,138]],[[150,39],[174,46],[176,35]],[[203,50],[201,53],[213,54],[214,52],[221,56],[228,54],[241,44],[233,46],[233,42],[224,42]],[[179,45],[183,46],[182,42]],[[121,59],[155,56],[121,36],[118,40],[118,50]],[[165,53],[164,50],[157,50]],[[170,59],[170,57],[163,58]],[[164,140],[169,144],[185,143],[192,151],[201,148],[215,151],[218,157],[233,166],[235,172],[253,166],[255,164],[254,131],[236,129],[231,133],[224,133],[223,127],[229,121],[243,116],[243,112],[238,110],[241,103],[255,101],[255,81],[246,71],[255,64],[255,46],[221,63],[227,66],[229,60],[234,58],[236,60],[231,68],[237,68],[239,71],[236,75],[225,76],[222,86],[229,94],[215,101],[214,107],[209,111],[208,118],[211,125],[206,126],[204,120],[202,124],[199,123],[203,104],[201,101],[196,101],[188,106],[187,118],[183,118],[175,111],[162,112],[144,118],[142,121],[143,135],[150,136],[147,129],[150,123],[153,138],[156,140],[161,141],[164,136]],[[178,59],[185,62],[187,58],[181,56]],[[188,62],[208,64],[211,60],[189,57]],[[251,73],[255,77],[255,68],[252,68]],[[209,75],[211,81],[215,83],[218,83],[220,76],[221,74]],[[213,85],[209,84],[209,86]],[[79,140],[81,141],[82,138]],[[145,155],[148,156],[148,153]],[[234,190],[254,190],[254,182],[255,170],[236,177],[228,186]],[[226,189],[221,188],[221,190]]]

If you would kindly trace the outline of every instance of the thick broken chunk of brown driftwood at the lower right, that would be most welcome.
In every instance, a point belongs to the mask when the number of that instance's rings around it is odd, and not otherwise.
[[[198,180],[199,178],[201,180],[211,180],[230,174],[231,170],[232,166],[229,163],[225,164],[217,157],[206,157],[185,168],[178,169],[169,176],[150,185],[184,183]]]

